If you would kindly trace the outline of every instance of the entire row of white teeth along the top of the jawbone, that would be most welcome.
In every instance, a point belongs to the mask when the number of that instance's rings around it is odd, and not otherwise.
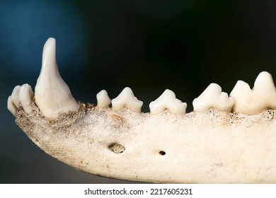
[[[78,103],[71,95],[70,89],[59,75],[56,62],[56,42],[49,38],[42,53],[42,69],[35,86],[35,103],[45,117],[54,119],[62,113],[74,112]],[[125,88],[117,98],[110,100],[108,93],[103,90],[96,95],[99,107],[110,107],[113,110],[128,108],[134,112],[141,112],[143,102],[138,100],[130,88]],[[32,88],[28,84],[16,86],[8,97],[8,110],[16,115],[20,106],[26,113],[32,111],[30,107],[33,98]],[[242,112],[253,115],[265,109],[276,109],[276,89],[272,76],[261,72],[255,80],[254,88],[248,83],[238,81],[230,97],[222,92],[216,83],[211,83],[202,94],[193,100],[195,112],[204,112],[214,108],[224,112]],[[176,98],[170,90],[164,91],[159,98],[149,104],[151,114],[159,114],[168,110],[174,114],[184,115],[187,104]]]

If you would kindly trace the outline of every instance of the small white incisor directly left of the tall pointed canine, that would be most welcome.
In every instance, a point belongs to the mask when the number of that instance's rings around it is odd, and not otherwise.
[[[28,84],[23,84],[23,86],[21,86],[18,98],[21,102],[24,112],[30,114],[30,112],[32,112],[32,107],[30,104],[33,98],[33,90]]]

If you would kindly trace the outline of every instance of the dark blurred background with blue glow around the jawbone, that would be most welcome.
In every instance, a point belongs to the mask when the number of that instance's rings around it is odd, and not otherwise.
[[[48,156],[14,123],[14,86],[35,88],[42,47],[57,40],[59,71],[76,100],[115,98],[129,86],[149,103],[166,88],[188,103],[209,83],[230,93],[260,71],[276,79],[276,1],[0,1],[0,182],[127,183],[82,173]]]

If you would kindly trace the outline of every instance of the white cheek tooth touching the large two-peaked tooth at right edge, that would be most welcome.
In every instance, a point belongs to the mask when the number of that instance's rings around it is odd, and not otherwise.
[[[212,107],[220,111],[231,112],[234,98],[222,92],[218,84],[211,83],[198,98],[192,101],[192,105],[195,112],[204,112]]]

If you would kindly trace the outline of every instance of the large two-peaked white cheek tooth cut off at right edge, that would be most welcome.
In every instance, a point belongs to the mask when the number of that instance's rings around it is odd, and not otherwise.
[[[238,81],[230,96],[235,100],[233,112],[253,115],[268,108],[276,109],[275,85],[266,71],[258,75],[252,90],[248,83]]]

